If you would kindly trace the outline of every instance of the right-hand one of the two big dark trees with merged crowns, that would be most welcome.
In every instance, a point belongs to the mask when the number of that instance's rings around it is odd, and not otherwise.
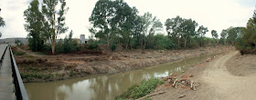
[[[136,8],[130,7],[123,0],[116,0],[113,2],[115,15],[112,20],[112,29],[117,30],[117,34],[121,35],[121,42],[125,49],[131,44],[133,35],[133,27],[135,26],[135,17],[137,15]]]

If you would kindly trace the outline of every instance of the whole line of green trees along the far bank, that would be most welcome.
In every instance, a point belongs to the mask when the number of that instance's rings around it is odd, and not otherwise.
[[[38,8],[39,5],[42,5],[41,10]],[[46,41],[51,43],[51,46],[47,48],[50,48],[53,54],[56,51],[64,52],[65,50],[64,53],[69,53],[79,50],[79,48],[74,49],[78,45],[72,42],[73,40],[70,40],[71,37],[68,36],[64,42],[56,43],[57,36],[68,30],[64,16],[68,9],[65,0],[43,0],[42,4],[33,0],[30,3],[24,15],[27,22],[25,27],[29,33],[29,46],[33,51],[43,51],[43,48],[48,46],[45,45]],[[195,20],[178,15],[166,19],[166,28],[163,29],[164,25],[156,16],[148,12],[138,15],[138,9],[134,6],[131,7],[123,0],[99,0],[94,6],[89,21],[92,25],[91,35],[100,40],[91,40],[88,48],[95,49],[98,44],[103,44],[107,45],[107,49],[110,51],[115,50],[118,45],[122,45],[123,49],[141,48],[142,53],[144,53],[144,49],[234,45],[243,32],[243,27],[229,27],[222,30],[219,39],[217,31],[211,30],[213,38],[208,38],[205,36],[208,33],[208,27],[198,26]],[[167,35],[163,34],[163,30],[167,32]],[[65,46],[71,47],[65,48]]]

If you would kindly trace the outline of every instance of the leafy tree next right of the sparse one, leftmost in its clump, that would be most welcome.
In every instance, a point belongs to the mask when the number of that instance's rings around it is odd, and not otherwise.
[[[177,47],[179,48],[179,41],[181,37],[181,27],[180,25],[184,22],[182,17],[176,16],[175,18],[172,19],[167,19],[165,21],[165,26],[166,26],[166,32],[169,37],[172,37],[173,39],[177,38]]]

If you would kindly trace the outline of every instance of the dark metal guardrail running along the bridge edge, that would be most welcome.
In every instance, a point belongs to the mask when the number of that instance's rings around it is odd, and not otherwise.
[[[11,62],[12,62],[16,100],[28,100],[27,91],[25,89],[25,86],[24,86],[21,76],[19,74],[19,71],[18,71],[18,68],[16,65],[16,59],[13,55],[12,48],[9,47],[9,49],[10,49]]]

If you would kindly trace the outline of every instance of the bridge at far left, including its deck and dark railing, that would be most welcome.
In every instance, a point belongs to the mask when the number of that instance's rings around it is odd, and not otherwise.
[[[0,100],[28,100],[9,45],[0,45]]]

